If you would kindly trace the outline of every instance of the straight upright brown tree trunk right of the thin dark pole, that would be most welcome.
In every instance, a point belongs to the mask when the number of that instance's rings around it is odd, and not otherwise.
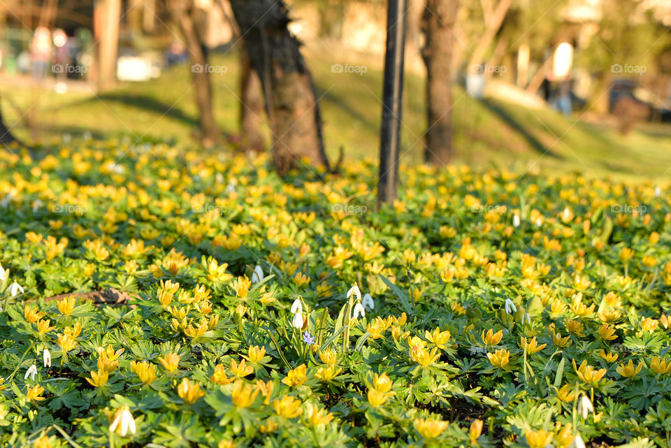
[[[426,0],[422,27],[426,44],[427,163],[444,166],[452,158],[452,57],[459,0]]]

